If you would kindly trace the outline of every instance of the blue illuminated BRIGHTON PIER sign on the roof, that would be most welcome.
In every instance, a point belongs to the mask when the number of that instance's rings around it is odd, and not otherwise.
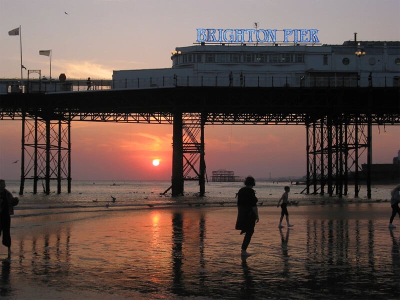
[[[318,29],[213,29],[197,28],[197,42],[276,43],[277,31],[283,31],[279,42],[319,42]],[[280,32],[279,32],[280,33]]]

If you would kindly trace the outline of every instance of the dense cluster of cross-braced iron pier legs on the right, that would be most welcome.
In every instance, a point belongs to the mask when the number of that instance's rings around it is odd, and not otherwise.
[[[371,162],[371,122],[364,116],[325,116],[306,125],[307,173],[306,192],[347,195],[348,183],[354,184],[358,197],[361,166],[359,158],[367,151]],[[369,168],[368,168],[369,169]],[[365,176],[362,176],[365,179]],[[319,183],[319,187],[318,187]],[[370,173],[366,174],[367,197],[370,198]]]

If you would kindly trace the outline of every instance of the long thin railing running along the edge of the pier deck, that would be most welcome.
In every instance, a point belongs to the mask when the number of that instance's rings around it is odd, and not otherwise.
[[[94,79],[90,86],[86,80],[21,80],[0,79],[0,93],[12,92],[70,92],[95,91],[106,89],[160,88],[174,86],[232,86],[232,87],[386,87],[399,86],[398,76],[271,76],[246,75],[231,80],[223,75],[209,76],[158,76],[123,79]]]

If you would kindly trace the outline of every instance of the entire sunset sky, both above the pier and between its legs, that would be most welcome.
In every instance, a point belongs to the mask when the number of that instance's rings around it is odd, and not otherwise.
[[[399,40],[398,0],[0,0],[0,78],[22,64],[57,78],[109,79],[112,70],[170,67],[170,53],[196,40],[196,28],[317,28],[321,43]],[[26,78],[26,71],[23,73]],[[0,98],[1,100],[1,98]],[[215,169],[256,178],[302,176],[303,125],[207,125],[207,175]],[[18,179],[21,123],[0,121],[0,177]],[[400,126],[373,127],[373,163],[390,163]],[[72,179],[169,180],[172,126],[72,122]],[[152,165],[160,159],[158,166]],[[363,158],[363,157],[362,157]],[[366,158],[365,158],[366,161]],[[362,161],[361,163],[365,162]]]

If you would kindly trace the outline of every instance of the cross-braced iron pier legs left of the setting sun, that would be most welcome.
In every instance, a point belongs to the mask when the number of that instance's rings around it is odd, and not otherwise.
[[[67,180],[67,191],[70,192],[70,128],[70,118],[65,120],[65,116],[54,120],[22,114],[19,194],[23,194],[27,179],[33,180],[33,193],[37,192],[39,180],[46,194],[50,193],[50,180],[57,180],[57,193],[61,192],[61,180]]]

